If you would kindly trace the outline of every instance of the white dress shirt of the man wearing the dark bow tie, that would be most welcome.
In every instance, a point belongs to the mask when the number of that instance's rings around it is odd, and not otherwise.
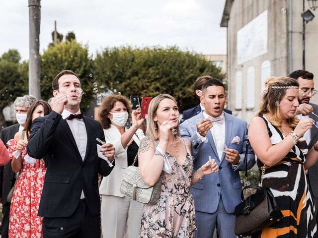
[[[64,109],[62,112],[62,118],[65,119],[66,122],[68,122],[70,129],[72,131],[72,134],[74,136],[76,145],[78,146],[80,157],[82,160],[84,160],[85,154],[86,154],[86,146],[87,146],[86,126],[83,119],[77,119],[77,118],[72,120],[66,119],[71,114],[72,114],[71,112]],[[80,110],[76,113],[76,115],[77,114],[80,114]],[[83,190],[81,190],[80,199],[83,199],[83,198],[85,198],[85,196],[84,196]]]

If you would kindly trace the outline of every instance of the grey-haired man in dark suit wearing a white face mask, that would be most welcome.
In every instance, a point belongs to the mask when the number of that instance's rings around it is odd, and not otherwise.
[[[14,138],[16,132],[24,129],[26,114],[36,98],[32,95],[24,95],[17,97],[14,101],[16,119],[18,123],[3,128],[0,131],[0,139],[7,148],[6,142]],[[16,174],[11,169],[11,161],[5,165],[0,166],[0,200],[2,203],[2,225],[1,225],[1,238],[8,237],[9,231],[9,216],[11,203],[6,201],[6,197],[14,185]]]

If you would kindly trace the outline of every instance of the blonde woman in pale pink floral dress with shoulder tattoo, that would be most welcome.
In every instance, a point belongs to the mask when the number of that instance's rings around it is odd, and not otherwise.
[[[138,152],[139,172],[148,185],[154,185],[160,176],[162,183],[157,204],[144,206],[141,238],[193,238],[194,201],[189,188],[218,171],[212,160],[192,173],[191,145],[180,138],[178,115],[177,103],[168,94],[160,94],[150,103],[147,137]]]

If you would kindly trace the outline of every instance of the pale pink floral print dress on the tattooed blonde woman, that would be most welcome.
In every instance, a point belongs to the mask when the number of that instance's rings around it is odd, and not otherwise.
[[[185,162],[165,154],[171,174],[162,171],[161,193],[155,205],[145,205],[140,238],[194,238],[194,200],[190,194],[193,161],[187,148]]]

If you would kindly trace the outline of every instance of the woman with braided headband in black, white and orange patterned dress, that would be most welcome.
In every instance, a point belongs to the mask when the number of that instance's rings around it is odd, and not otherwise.
[[[318,143],[305,158],[299,141],[314,120],[295,117],[299,106],[295,79],[270,77],[265,86],[259,111],[249,124],[248,138],[259,170],[264,171],[262,185],[270,187],[284,217],[254,237],[312,238],[317,230],[316,215],[305,170],[318,160]]]

